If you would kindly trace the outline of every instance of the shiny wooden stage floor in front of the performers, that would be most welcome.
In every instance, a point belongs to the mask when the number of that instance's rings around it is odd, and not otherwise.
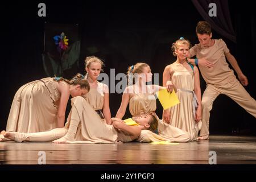
[[[217,164],[256,164],[256,137],[211,135],[210,140],[177,145],[0,142],[0,163],[38,164],[40,151],[46,164],[209,164],[210,151],[216,152]]]

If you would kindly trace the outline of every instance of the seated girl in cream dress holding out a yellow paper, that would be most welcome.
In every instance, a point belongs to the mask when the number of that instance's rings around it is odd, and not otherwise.
[[[146,63],[137,63],[129,68],[128,76],[129,85],[122,96],[122,103],[115,117],[122,118],[125,115],[127,105],[133,119],[143,114],[153,113],[155,116],[156,99],[154,94],[161,89],[165,89],[158,85],[146,85],[151,81],[152,73],[150,67]],[[133,84],[135,81],[135,84]],[[158,118],[156,116],[156,118]],[[178,129],[177,127],[168,125],[158,118],[158,130],[154,132],[143,130],[138,142],[150,142],[159,140],[170,140],[171,142],[189,142],[196,138],[198,131],[188,133],[187,131]]]

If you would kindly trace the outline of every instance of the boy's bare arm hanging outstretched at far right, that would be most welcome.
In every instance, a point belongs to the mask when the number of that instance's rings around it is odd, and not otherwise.
[[[229,63],[232,65],[232,67],[234,68],[234,70],[237,73],[237,76],[239,78],[239,80],[241,81],[242,85],[246,86],[248,85],[248,80],[247,77],[245,75],[243,75],[236,58],[230,53],[225,53],[226,59],[228,59]]]

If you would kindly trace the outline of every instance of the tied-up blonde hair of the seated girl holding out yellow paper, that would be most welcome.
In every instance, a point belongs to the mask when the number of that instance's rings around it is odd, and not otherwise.
[[[143,68],[150,67],[147,63],[136,63],[131,65],[127,71],[128,85],[133,85],[135,82],[134,74],[143,73]]]

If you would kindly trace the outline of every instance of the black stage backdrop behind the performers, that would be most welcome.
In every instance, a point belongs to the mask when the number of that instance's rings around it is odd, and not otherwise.
[[[38,16],[38,3],[46,3],[46,17]],[[1,113],[0,129],[5,129],[16,90],[23,84],[47,77],[43,68],[44,24],[79,24],[81,55],[79,67],[65,72],[70,78],[84,73],[84,59],[95,55],[105,61],[105,73],[125,73],[129,65],[146,62],[152,73],[162,73],[175,61],[171,44],[183,36],[198,43],[195,27],[203,20],[191,1],[40,1],[10,2],[1,11]],[[255,90],[255,13],[251,2],[229,1],[237,43],[222,38],[236,57],[249,80],[246,90],[256,98]],[[61,33],[61,32],[60,32]],[[117,81],[118,82],[118,81]],[[116,83],[117,83],[116,82]],[[201,78],[202,94],[205,82]],[[110,94],[112,117],[121,103],[121,94]],[[68,110],[70,106],[68,107]],[[162,118],[158,101],[156,113]],[[130,117],[127,109],[125,118]],[[219,96],[210,116],[211,134],[256,134],[255,118],[229,97]]]

